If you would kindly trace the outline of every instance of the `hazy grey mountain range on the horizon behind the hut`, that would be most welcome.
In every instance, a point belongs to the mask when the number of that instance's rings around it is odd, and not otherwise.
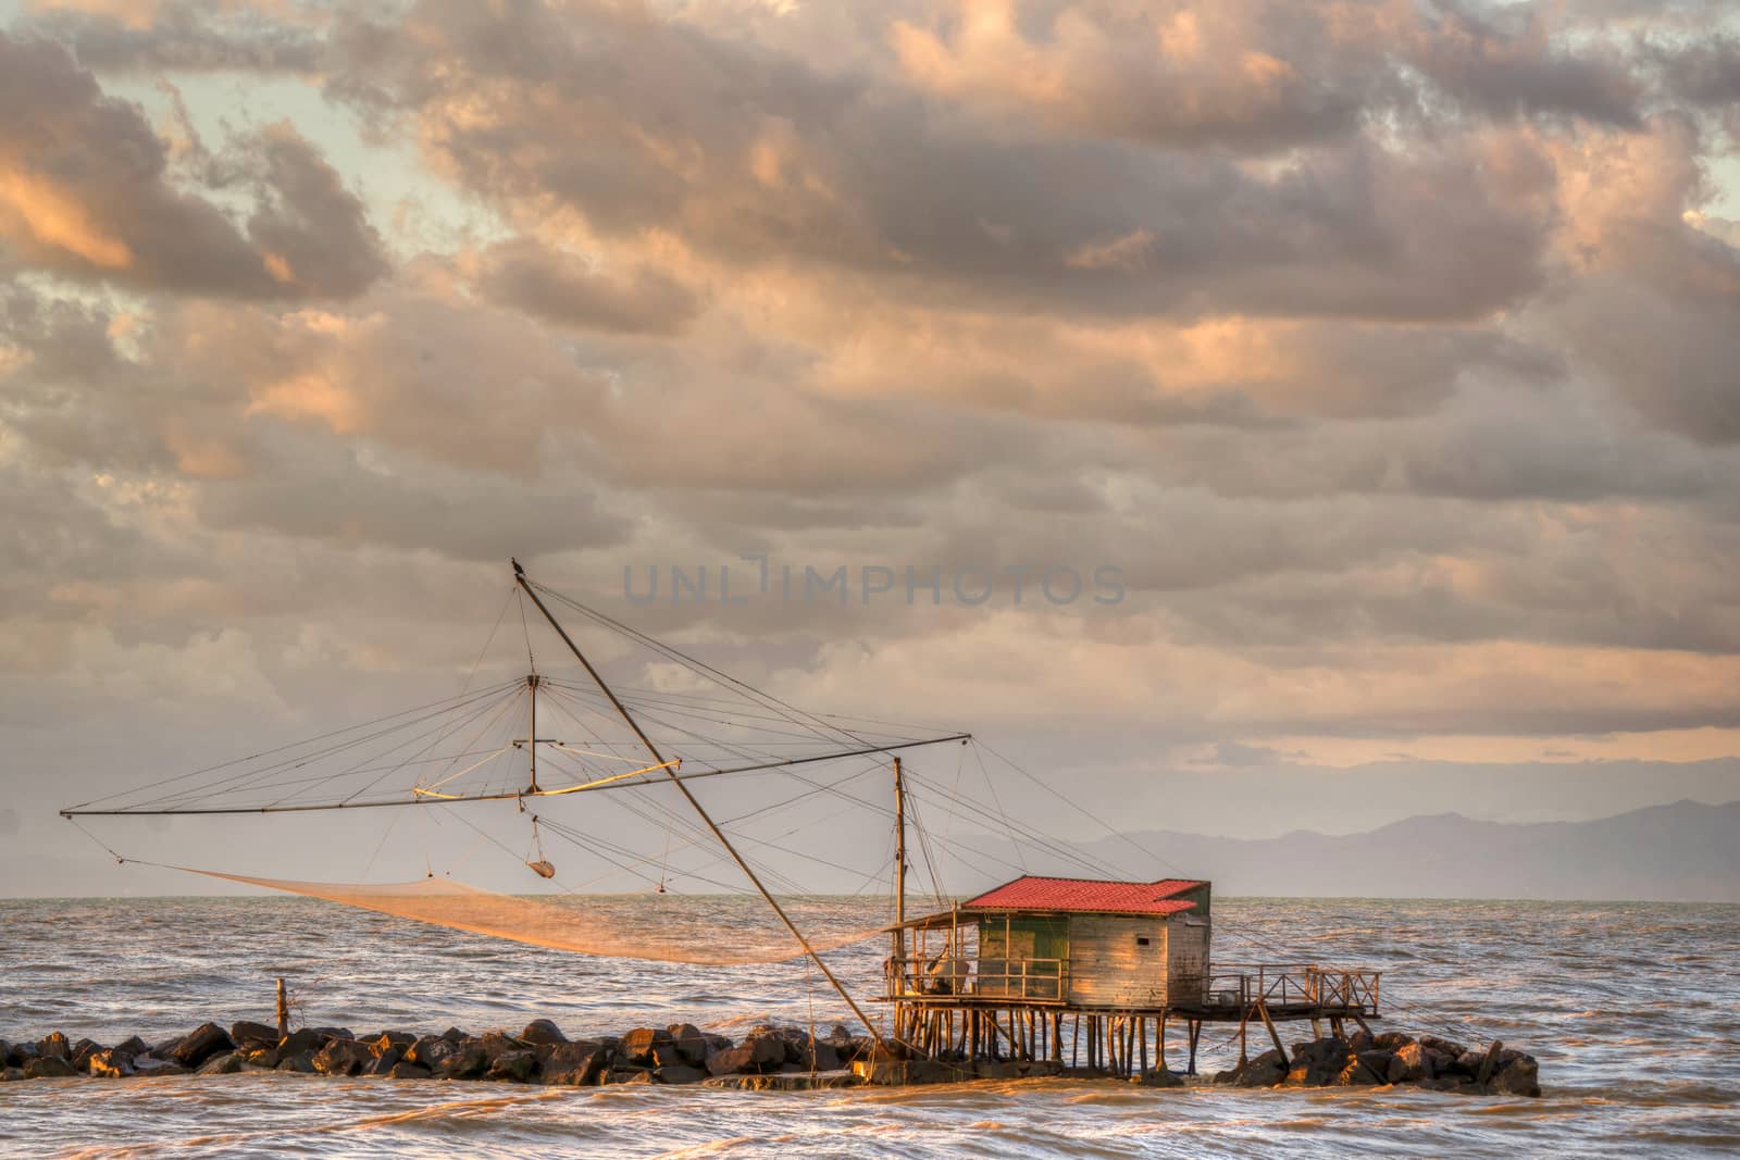
[[[1168,868],[1213,880],[1216,894],[1740,903],[1740,802],[1536,824],[1432,814],[1338,837],[1129,837]],[[1086,850],[1134,861],[1122,838]]]

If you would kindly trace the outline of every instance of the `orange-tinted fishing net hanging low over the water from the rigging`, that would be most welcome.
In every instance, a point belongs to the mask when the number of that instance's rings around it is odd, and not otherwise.
[[[484,890],[452,878],[369,885],[254,878],[191,866],[176,870],[579,955],[719,967],[778,963],[804,955],[799,941],[783,929],[748,925],[696,929],[693,923],[626,920],[595,913],[588,910],[585,899],[574,899],[572,904],[546,903]],[[811,939],[811,946],[816,951],[828,951],[873,934],[879,934],[877,927],[854,929]]]

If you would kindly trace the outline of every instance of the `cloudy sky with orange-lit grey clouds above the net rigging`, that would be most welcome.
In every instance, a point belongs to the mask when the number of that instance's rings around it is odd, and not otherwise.
[[[1141,828],[1740,798],[1721,3],[0,17],[9,866],[451,692],[510,553]]]

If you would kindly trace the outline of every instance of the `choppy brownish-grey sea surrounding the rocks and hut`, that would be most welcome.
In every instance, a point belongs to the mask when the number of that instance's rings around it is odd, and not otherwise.
[[[706,943],[748,899],[600,897]],[[816,903],[818,930],[867,915]],[[875,917],[868,917],[875,920]],[[880,943],[832,955],[873,991]],[[1251,1157],[1740,1153],[1740,908],[1216,899],[1218,962],[1385,970],[1385,1026],[1502,1038],[1542,1099],[1411,1089],[1154,1090],[1027,1080],[731,1092],[510,1087],[291,1075],[0,1085],[0,1153],[28,1157]],[[844,1007],[802,963],[684,967],[473,937],[310,899],[0,901],[0,1038],[165,1038],[271,1019],[569,1035],[693,1021],[821,1028]],[[875,1009],[872,1009],[875,1010]],[[1308,1038],[1295,1024],[1295,1038]],[[1228,1028],[1230,1030],[1230,1028]],[[1235,1045],[1204,1031],[1204,1071]],[[1258,1045],[1260,1049],[1260,1045]],[[1176,1050],[1176,1049],[1173,1049]],[[1173,1063],[1180,1063],[1173,1056]]]

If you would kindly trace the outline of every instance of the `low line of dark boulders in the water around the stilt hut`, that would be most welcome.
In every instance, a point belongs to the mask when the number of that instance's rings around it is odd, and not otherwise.
[[[205,1023],[186,1035],[148,1043],[139,1037],[106,1047],[70,1042],[59,1031],[35,1042],[0,1040],[3,1080],[59,1077],[165,1077],[284,1071],[385,1080],[494,1080],[593,1087],[602,1083],[708,1083],[746,1090],[849,1087],[854,1083],[938,1083],[974,1078],[1028,1078],[1096,1073],[1051,1061],[873,1059],[873,1040],[835,1024],[826,1037],[806,1028],[757,1026],[741,1040],[701,1031],[689,1023],[635,1028],[625,1035],[567,1038],[552,1021],[536,1019],[517,1035],[440,1035],[350,1028],[299,1028],[280,1037],[263,1023]],[[1181,1087],[1169,1071],[1148,1071],[1150,1087]],[[1434,1090],[1495,1096],[1540,1096],[1533,1056],[1493,1043],[1472,1050],[1451,1040],[1401,1031],[1296,1043],[1286,1061],[1263,1052],[1216,1083],[1239,1087],[1352,1087],[1415,1083]]]

